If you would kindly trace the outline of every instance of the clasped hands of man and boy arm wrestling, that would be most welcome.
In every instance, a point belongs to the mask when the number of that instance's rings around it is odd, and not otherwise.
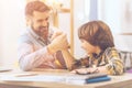
[[[69,44],[66,37],[66,34],[61,32],[61,31],[56,31],[53,36],[52,36],[52,42],[51,44],[47,46],[50,53],[56,53],[57,51],[63,51],[63,50],[67,50]]]

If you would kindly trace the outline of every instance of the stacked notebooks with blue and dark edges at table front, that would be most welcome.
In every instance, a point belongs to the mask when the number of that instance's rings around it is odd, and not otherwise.
[[[67,76],[66,82],[68,84],[90,84],[90,82],[99,82],[107,81],[111,78],[107,74],[89,74],[89,75],[70,75]]]

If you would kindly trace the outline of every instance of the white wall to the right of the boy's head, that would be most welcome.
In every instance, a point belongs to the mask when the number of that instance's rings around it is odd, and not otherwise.
[[[120,35],[121,33],[132,33],[132,7],[127,8],[127,3],[131,6],[132,0],[100,0],[99,19],[110,26],[116,47],[132,52],[132,35]]]

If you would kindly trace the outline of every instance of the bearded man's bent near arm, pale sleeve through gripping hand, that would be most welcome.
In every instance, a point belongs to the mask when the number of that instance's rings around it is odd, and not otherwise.
[[[35,68],[44,62],[53,61],[53,54],[65,47],[67,47],[65,34],[57,36],[51,44],[38,51],[34,51],[34,45],[32,43],[24,41],[19,46],[20,66],[23,70]]]

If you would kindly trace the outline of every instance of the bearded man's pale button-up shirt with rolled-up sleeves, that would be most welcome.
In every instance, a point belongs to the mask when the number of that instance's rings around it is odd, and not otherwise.
[[[56,29],[50,29],[47,40],[40,37],[32,29],[22,34],[19,38],[19,64],[23,70],[33,68],[66,68],[63,55],[61,52],[50,54],[47,45],[51,43],[51,35]],[[56,64],[59,61],[62,66]]]

